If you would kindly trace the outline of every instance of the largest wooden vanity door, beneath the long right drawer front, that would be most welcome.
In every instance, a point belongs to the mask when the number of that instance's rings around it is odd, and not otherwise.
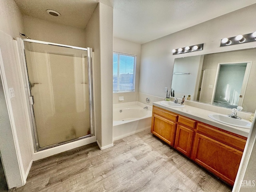
[[[242,154],[235,148],[196,133],[191,158],[233,186]]]

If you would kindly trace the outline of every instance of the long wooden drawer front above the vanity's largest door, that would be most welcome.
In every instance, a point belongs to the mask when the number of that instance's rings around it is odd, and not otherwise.
[[[213,138],[219,142],[222,142],[228,146],[232,146],[235,149],[244,151],[246,140],[230,135],[228,133],[216,130],[209,126],[198,123],[196,131],[202,133],[210,138]]]

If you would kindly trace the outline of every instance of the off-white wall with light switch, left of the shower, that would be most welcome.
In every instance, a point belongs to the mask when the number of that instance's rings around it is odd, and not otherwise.
[[[4,73],[2,78],[6,82],[5,88],[8,90],[12,87],[15,92],[15,97],[8,102],[10,119],[7,119],[5,100],[3,95],[1,96],[1,115],[4,117],[1,123],[5,126],[0,127],[0,140],[5,142],[0,146],[0,150],[8,187],[12,188],[22,186],[26,182],[26,176],[32,164],[28,124],[24,115],[22,84],[12,40],[19,36],[19,32],[24,32],[24,27],[22,15],[14,0],[0,0],[0,4],[0,48],[4,66],[4,70],[1,68],[2,74]],[[8,97],[7,90],[5,94]],[[6,99],[8,101],[8,98]]]

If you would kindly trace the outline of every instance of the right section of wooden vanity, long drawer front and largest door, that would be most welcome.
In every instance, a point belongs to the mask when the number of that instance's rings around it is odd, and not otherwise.
[[[191,159],[233,186],[245,139],[198,123]]]

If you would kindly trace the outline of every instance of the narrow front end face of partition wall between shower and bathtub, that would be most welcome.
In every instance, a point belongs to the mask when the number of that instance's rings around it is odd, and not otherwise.
[[[113,8],[102,3],[99,6],[102,140],[97,140],[104,149],[113,146]]]

